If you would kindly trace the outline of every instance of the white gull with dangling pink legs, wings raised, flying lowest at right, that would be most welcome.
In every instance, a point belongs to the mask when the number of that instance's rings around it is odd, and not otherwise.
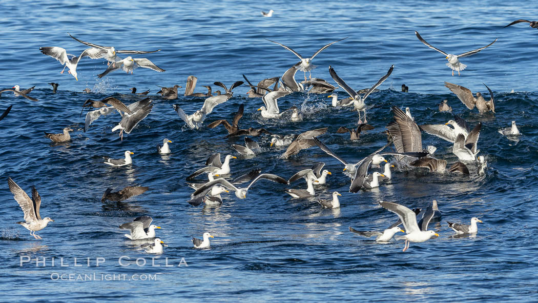
[[[433,236],[439,236],[433,230],[421,231],[419,224],[416,223],[416,214],[413,210],[394,202],[379,201],[379,205],[386,210],[397,214],[398,217],[400,217],[400,220],[404,222],[404,228],[407,235],[401,237],[405,239],[405,247],[402,251],[406,251],[411,242],[425,242]]]

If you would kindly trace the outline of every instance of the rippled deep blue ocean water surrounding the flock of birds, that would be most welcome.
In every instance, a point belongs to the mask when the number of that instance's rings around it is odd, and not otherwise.
[[[9,290],[3,292],[2,301],[141,301],[150,295],[155,301],[535,301],[538,90],[534,74],[538,62],[534,43],[538,31],[524,23],[502,26],[519,18],[532,20],[528,12],[536,11],[537,6],[500,1],[0,3],[4,11],[0,86],[35,85],[31,95],[40,100],[32,102],[7,93],[0,102],[2,111],[13,104],[0,122],[0,179],[4,180],[0,289]],[[275,10],[272,18],[261,17],[260,10],[271,8]],[[463,58],[468,68],[452,77],[443,55],[421,44],[415,30],[434,46],[456,54],[499,40]],[[85,58],[77,68],[76,82],[67,73],[60,75],[58,61],[39,52],[41,46],[61,46],[80,54],[83,45],[67,32],[117,49],[162,48],[144,57],[166,72],[138,68],[133,75],[113,72],[97,79],[107,67],[105,61]],[[359,89],[370,87],[395,65],[381,91],[367,101],[378,105],[368,116],[376,129],[359,141],[336,133],[339,126],[356,125],[357,114],[331,108],[327,95],[282,97],[281,109],[296,105],[305,118],[296,123],[285,118],[267,121],[256,112],[263,105],[261,100],[246,98],[247,88],[240,87],[231,100],[215,108],[207,123],[230,119],[244,103],[242,126],[264,126],[277,133],[328,126],[320,139],[351,161],[385,144],[383,131],[391,120],[392,105],[411,108],[419,124],[445,123],[452,116],[438,112],[437,104],[448,98],[454,114],[471,125],[483,123],[478,145],[489,164],[486,174],[461,177],[396,172],[390,184],[352,194],[348,192],[349,178],[341,173],[342,165],[336,159],[315,147],[281,160],[278,157],[284,149],[270,149],[270,137],[261,136],[254,139],[263,153],[252,159],[233,159],[233,175],[259,167],[289,178],[324,161],[333,174],[327,185],[316,188],[316,198],[295,200],[284,193],[285,188],[302,187],[302,181],[291,186],[266,181],[253,186],[245,200],[231,193],[224,195],[221,207],[192,207],[186,202],[192,193],[186,185],[187,175],[202,167],[213,152],[237,156],[231,144],[243,140],[223,138],[224,129],[186,128],[172,104],[179,103],[192,113],[201,107],[203,98],[180,96],[170,101],[152,95],[151,114],[123,141],[111,133],[118,115],[102,117],[88,132],[82,131],[84,116],[79,114],[88,97],[114,95],[131,103],[140,97],[128,94],[130,87],[156,93],[156,84],[185,86],[188,75],[198,77],[196,91],[204,91],[201,86],[214,81],[229,86],[242,80],[241,74],[258,82],[280,76],[298,61],[264,38],[310,55],[344,37],[349,38],[315,58],[318,67],[313,76],[334,83],[328,73],[328,65],[332,65],[351,87]],[[298,72],[296,79],[301,78]],[[444,81],[483,93],[482,83],[486,83],[496,94],[497,114],[466,109],[443,86]],[[60,84],[58,94],[51,93],[48,82]],[[402,83],[409,86],[409,93],[399,91]],[[84,88],[94,93],[82,94]],[[344,96],[341,89],[338,92]],[[497,133],[512,120],[523,133],[518,141]],[[70,143],[52,144],[43,136],[43,131],[60,132],[65,126],[76,129]],[[155,145],[165,137],[172,140],[173,153],[160,156]],[[438,157],[455,161],[448,142],[426,133],[422,138],[424,146],[438,147]],[[102,163],[102,156],[120,158],[125,150],[134,152],[132,165],[114,168]],[[14,224],[22,220],[22,212],[9,192],[8,177],[27,192],[36,185],[43,200],[41,215],[55,220],[38,232],[43,241],[35,241],[26,229]],[[121,204],[100,202],[107,187],[128,185],[151,190]],[[328,198],[332,191],[343,194],[341,208],[321,209],[316,200]],[[437,199],[443,220],[433,227],[440,237],[411,244],[402,253],[403,242],[377,244],[351,234],[349,226],[381,230],[396,220],[377,205],[381,199],[410,208],[425,208]],[[158,236],[169,244],[162,255],[146,254],[118,228],[143,214],[162,227]],[[452,237],[454,232],[445,221],[467,223],[472,216],[484,221],[476,237]],[[205,231],[215,236],[211,248],[193,249],[190,238],[201,237]],[[120,266],[122,256],[131,263],[137,258],[145,258],[147,263]],[[26,257],[32,262],[19,266]],[[45,266],[36,266],[36,258],[43,257],[47,258]],[[60,257],[69,267],[59,266]],[[83,259],[83,266],[74,267],[74,257],[79,264]],[[160,266],[151,266],[152,257]],[[96,266],[98,258],[105,259],[100,266]],[[173,267],[165,267],[165,258]],[[181,258],[188,267],[177,266]],[[74,274],[75,279],[78,274],[97,279],[107,274],[126,274],[126,279],[133,274],[157,274],[157,281],[62,281],[55,280],[55,274]]]

